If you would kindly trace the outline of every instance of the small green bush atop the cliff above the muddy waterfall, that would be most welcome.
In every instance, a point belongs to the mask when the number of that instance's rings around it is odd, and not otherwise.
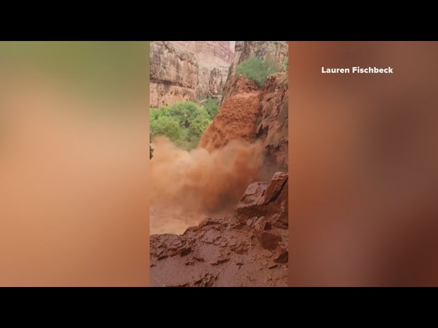
[[[250,57],[250,59],[242,61],[242,63],[237,65],[235,74],[244,74],[245,77],[257,82],[260,87],[263,87],[266,79],[279,71],[280,69],[269,59]]]

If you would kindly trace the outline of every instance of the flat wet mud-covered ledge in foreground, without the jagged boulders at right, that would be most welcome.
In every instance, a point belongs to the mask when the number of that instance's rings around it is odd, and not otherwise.
[[[235,217],[206,219],[181,236],[151,236],[151,286],[287,286],[276,256]]]

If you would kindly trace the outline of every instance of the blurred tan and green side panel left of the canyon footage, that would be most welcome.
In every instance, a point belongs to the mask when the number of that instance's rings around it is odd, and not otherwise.
[[[111,42],[37,42],[30,53],[20,47],[35,42],[9,43],[0,42],[7,72],[0,79],[0,286],[146,286],[149,132],[140,89],[147,70],[123,80],[131,70],[107,56],[106,67],[119,72],[99,75],[94,64]],[[5,59],[5,50],[23,58]],[[129,51],[147,61],[147,50],[144,42]],[[52,61],[55,70],[44,66]],[[129,96],[121,81],[130,83]]]

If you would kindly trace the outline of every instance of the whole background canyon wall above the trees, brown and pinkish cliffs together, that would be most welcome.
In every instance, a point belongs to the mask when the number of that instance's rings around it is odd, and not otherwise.
[[[233,54],[230,41],[151,42],[151,107],[220,99]]]

